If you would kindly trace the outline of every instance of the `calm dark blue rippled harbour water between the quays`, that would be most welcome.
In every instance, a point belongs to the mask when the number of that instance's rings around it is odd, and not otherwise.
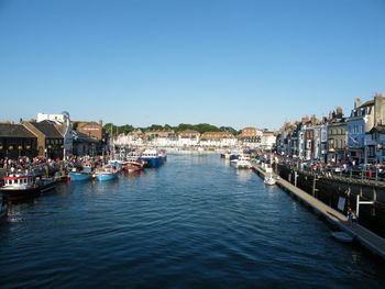
[[[12,205],[1,288],[385,288],[385,267],[218,155]]]

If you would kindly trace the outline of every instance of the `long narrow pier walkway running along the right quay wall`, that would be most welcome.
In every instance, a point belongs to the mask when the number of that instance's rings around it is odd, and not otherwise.
[[[258,166],[253,166],[253,170],[262,177],[265,177],[267,175],[267,173]],[[285,191],[297,197],[304,203],[312,208],[316,213],[323,215],[326,220],[338,226],[341,231],[344,231],[345,233],[352,235],[364,247],[385,259],[385,238],[374,234],[358,223],[351,224],[344,214],[336,211],[309,193],[293,186],[290,182],[279,178],[277,180],[277,185]]]

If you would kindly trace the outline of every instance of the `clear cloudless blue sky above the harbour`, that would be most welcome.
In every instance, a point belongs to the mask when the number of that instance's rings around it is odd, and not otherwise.
[[[384,0],[0,0],[0,121],[278,129],[375,92]]]

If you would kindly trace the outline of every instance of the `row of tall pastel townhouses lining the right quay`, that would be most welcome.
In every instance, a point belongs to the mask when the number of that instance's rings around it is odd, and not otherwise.
[[[354,101],[349,116],[341,108],[318,120],[304,116],[286,122],[277,132],[276,149],[280,155],[306,160],[385,164],[385,99]]]

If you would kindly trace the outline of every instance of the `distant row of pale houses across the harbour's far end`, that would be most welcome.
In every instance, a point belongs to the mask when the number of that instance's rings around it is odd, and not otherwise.
[[[261,131],[256,127],[243,129],[241,134],[234,136],[230,132],[206,132],[188,130],[175,132],[173,130],[132,131],[120,134],[114,138],[114,144],[120,146],[160,146],[160,147],[220,147],[231,148],[243,146],[249,148],[272,149],[275,146],[274,132]]]

